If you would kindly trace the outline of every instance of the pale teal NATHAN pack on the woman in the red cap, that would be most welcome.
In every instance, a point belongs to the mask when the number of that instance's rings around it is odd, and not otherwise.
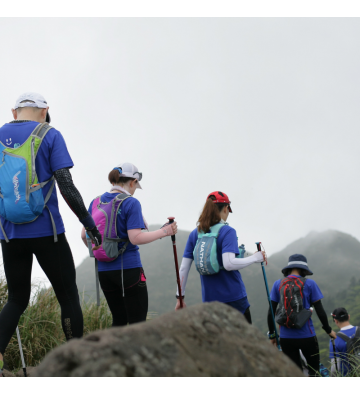
[[[219,273],[224,267],[219,265],[217,259],[216,239],[220,229],[227,224],[216,224],[210,228],[209,233],[199,232],[198,239],[193,251],[196,270],[203,276]],[[237,258],[243,258],[245,254],[244,244],[239,247]]]

